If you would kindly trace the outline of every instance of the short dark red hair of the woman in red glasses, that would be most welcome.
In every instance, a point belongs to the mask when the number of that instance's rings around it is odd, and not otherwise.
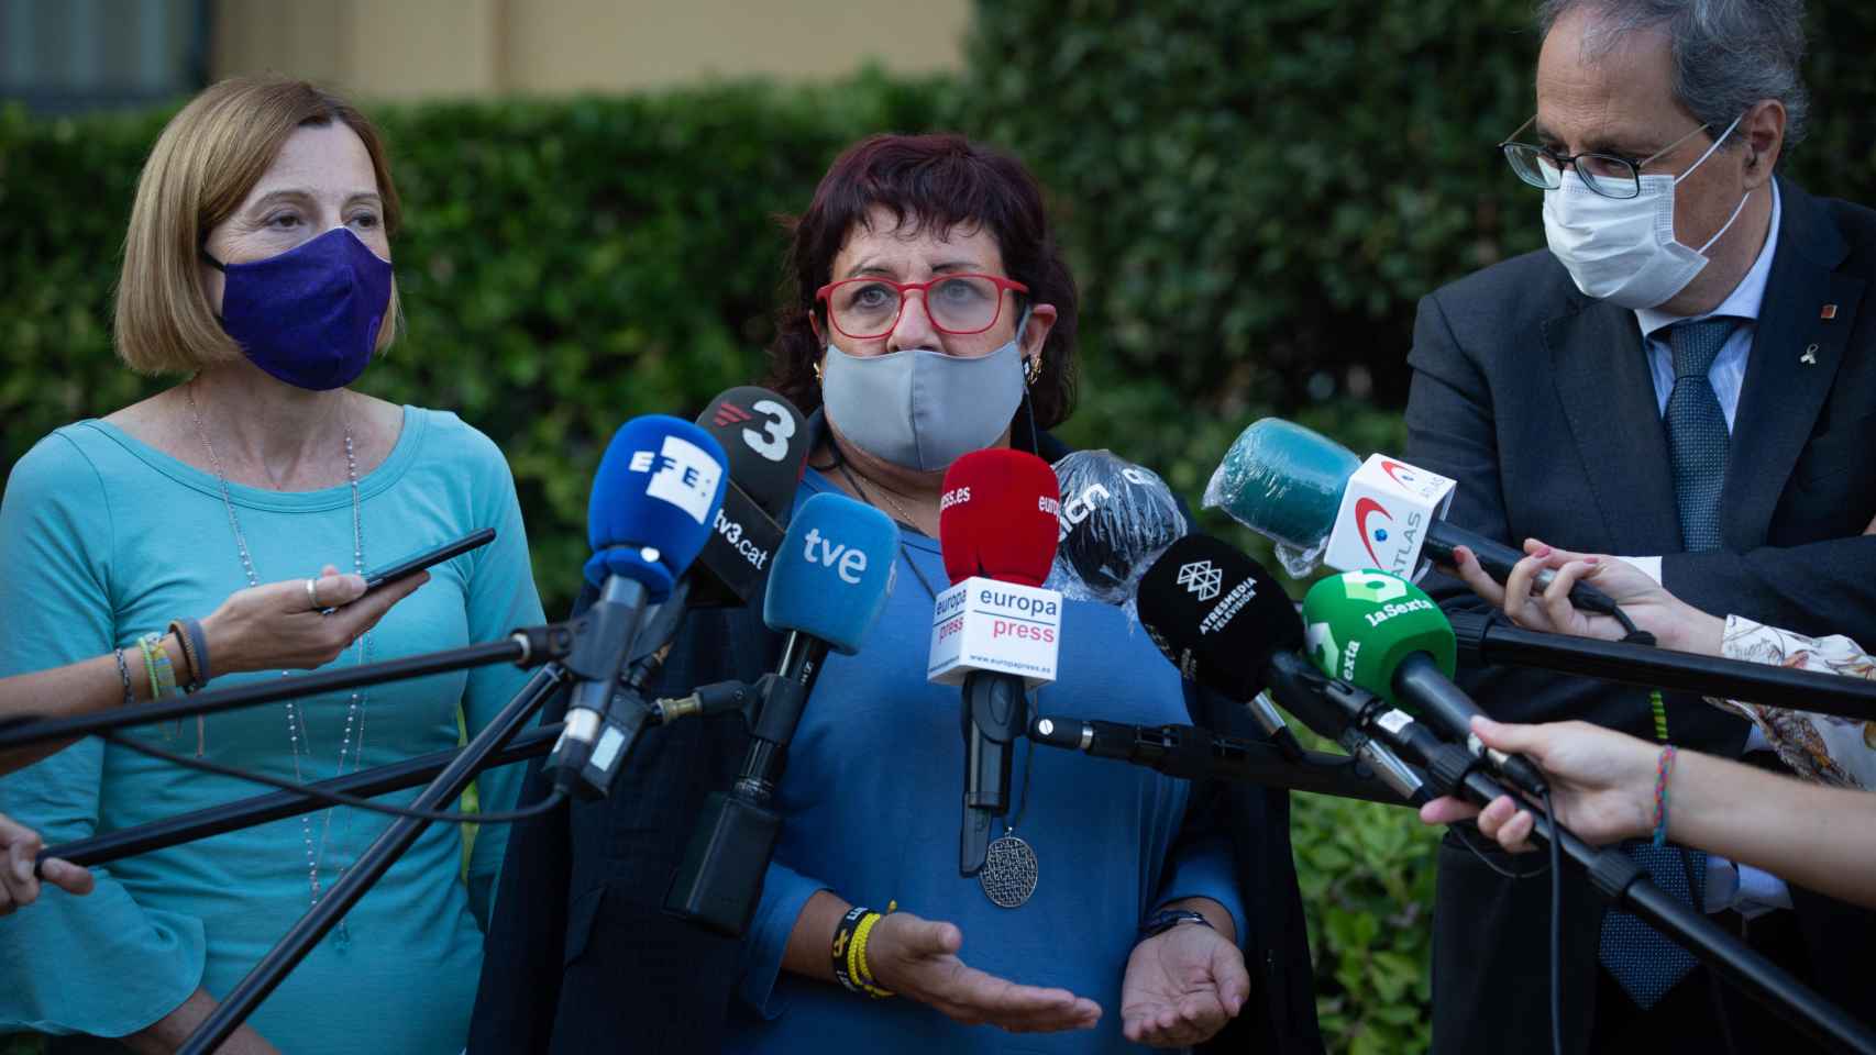
[[[1043,341],[1041,375],[1030,386],[1036,425],[1054,427],[1075,407],[1075,277],[1062,262],[1043,212],[1043,193],[1017,159],[962,135],[872,135],[846,150],[814,189],[809,210],[790,221],[790,289],[769,347],[769,388],[803,414],[822,403],[814,364],[825,341],[814,335],[814,290],[829,281],[848,236],[882,206],[902,229],[983,229],[996,238],[1009,277],[1030,287],[1030,304],[1051,304],[1054,326]],[[910,225],[910,227],[908,227]]]

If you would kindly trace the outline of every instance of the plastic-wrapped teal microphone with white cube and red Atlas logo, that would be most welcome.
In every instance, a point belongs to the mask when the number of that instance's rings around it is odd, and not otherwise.
[[[1343,472],[1345,470],[1345,472]],[[1204,491],[1204,508],[1223,508],[1257,534],[1298,551],[1321,549],[1338,572],[1379,570],[1420,577],[1426,562],[1452,566],[1467,547],[1503,583],[1523,553],[1446,523],[1456,482],[1386,455],[1356,459],[1349,448],[1279,418],[1253,422],[1225,452]],[[1538,572],[1533,590],[1557,577]],[[1615,615],[1615,600],[1589,583],[1570,603]]]

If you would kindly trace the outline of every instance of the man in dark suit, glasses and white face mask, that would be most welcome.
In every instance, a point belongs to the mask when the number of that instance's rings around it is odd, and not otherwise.
[[[1868,645],[1876,214],[1775,174],[1803,133],[1801,19],[1801,0],[1542,6],[1536,116],[1505,152],[1542,187],[1550,249],[1420,304],[1409,455],[1460,482],[1463,527],[1617,553],[1702,609]],[[1478,603],[1433,585],[1448,607]],[[1495,718],[1657,735],[1632,688],[1510,669],[1471,671],[1469,688]],[[1664,712],[1677,744],[1763,759],[1730,714],[1673,695]],[[1867,1014],[1868,913],[1720,858],[1628,853]],[[1501,879],[1450,834],[1439,869],[1433,1049],[1548,1049],[1548,881]],[[1581,869],[1566,868],[1563,913],[1565,1049],[1805,1049],[1679,946],[1604,913]]]

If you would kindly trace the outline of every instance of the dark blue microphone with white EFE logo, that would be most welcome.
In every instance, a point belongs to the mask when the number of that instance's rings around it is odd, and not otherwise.
[[[613,433],[593,476],[585,577],[598,602],[574,624],[567,669],[576,678],[567,725],[546,768],[553,787],[598,798],[630,736],[606,721],[619,667],[632,652],[647,603],[696,560],[722,506],[728,457],[709,433],[664,414],[632,418]]]

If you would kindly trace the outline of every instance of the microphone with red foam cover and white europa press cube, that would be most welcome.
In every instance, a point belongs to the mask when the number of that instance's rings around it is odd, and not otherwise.
[[[951,463],[938,502],[951,588],[932,605],[925,676],[964,690],[959,873],[981,873],[1000,905],[1021,905],[1036,884],[1028,845],[1007,834],[992,843],[991,830],[1009,811],[1009,763],[1030,723],[1024,693],[1054,680],[1062,594],[1041,583],[1054,564],[1060,513],[1054,468],[1002,448]]]

